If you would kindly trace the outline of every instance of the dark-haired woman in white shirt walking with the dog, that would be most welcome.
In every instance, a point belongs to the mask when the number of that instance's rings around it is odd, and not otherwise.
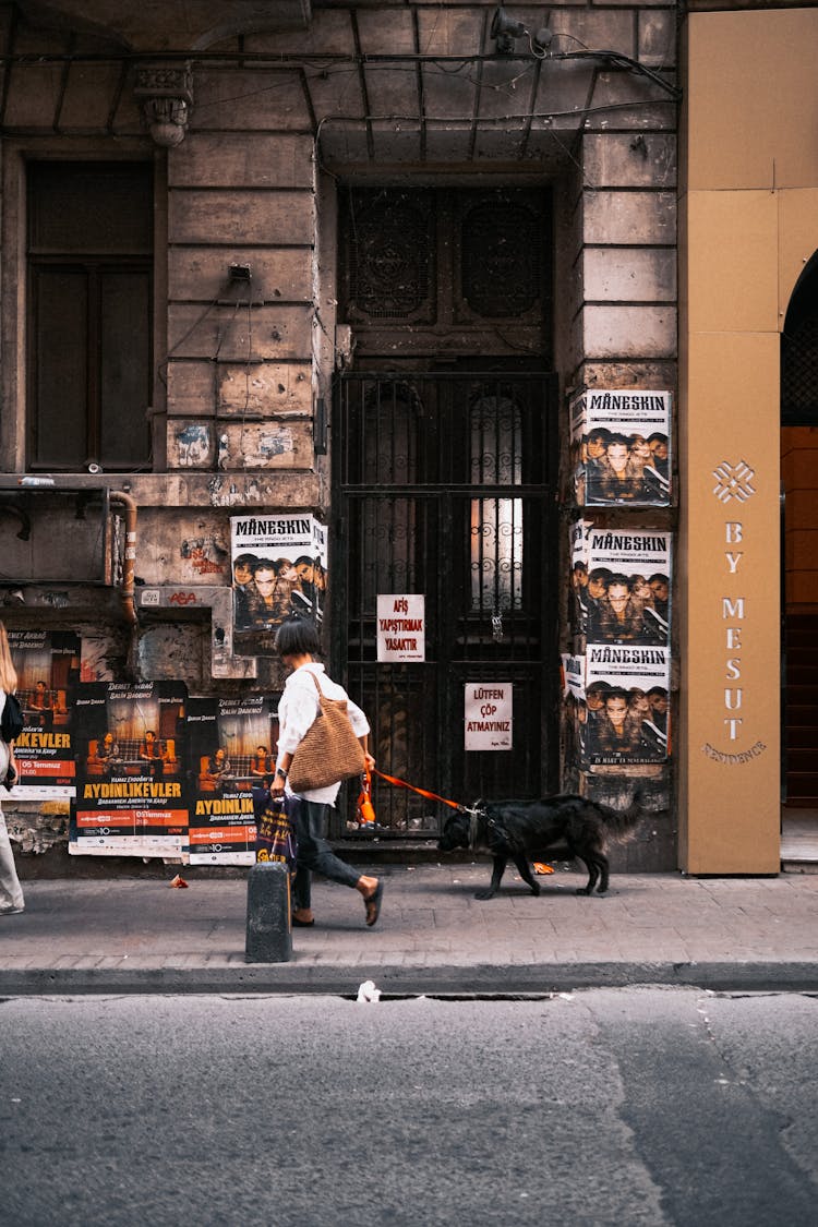
[[[341,788],[341,782],[326,788],[304,789],[296,794],[287,785],[287,772],[307,730],[320,713],[316,683],[330,699],[346,699],[347,714],[353,733],[361,742],[372,769],[375,761],[367,748],[369,721],[337,682],[326,676],[324,665],[315,660],[319,652],[318,632],[312,622],[287,618],[276,632],[276,650],[292,672],[285,683],[278,704],[278,755],[276,775],[270,789],[271,796],[285,791],[291,799],[291,818],[298,840],[298,861],[293,882],[293,924],[307,926],[315,923],[312,910],[312,872],[315,870],[332,882],[352,886],[363,896],[367,924],[374,925],[380,914],[384,883],[378,877],[359,876],[346,861],[331,850],[326,840],[330,809]]]

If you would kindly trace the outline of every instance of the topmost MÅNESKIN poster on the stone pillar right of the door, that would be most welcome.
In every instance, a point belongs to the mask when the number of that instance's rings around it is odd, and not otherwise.
[[[671,502],[670,391],[585,388],[569,402],[574,497],[585,507]]]

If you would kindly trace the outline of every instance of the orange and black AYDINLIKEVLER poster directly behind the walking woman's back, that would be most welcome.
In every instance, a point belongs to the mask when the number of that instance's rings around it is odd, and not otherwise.
[[[190,699],[188,706],[191,865],[255,864],[253,790],[272,780],[277,706],[261,694]]]

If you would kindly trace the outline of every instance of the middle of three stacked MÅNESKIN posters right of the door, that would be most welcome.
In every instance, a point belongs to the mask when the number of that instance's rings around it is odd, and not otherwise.
[[[587,643],[670,644],[671,534],[592,520],[578,520],[571,531],[574,634]]]

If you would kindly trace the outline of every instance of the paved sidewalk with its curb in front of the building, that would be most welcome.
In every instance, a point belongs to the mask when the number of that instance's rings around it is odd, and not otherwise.
[[[546,994],[628,984],[724,991],[818,991],[818,875],[540,877],[535,898],[489,865],[378,866],[378,925],[361,897],[316,879],[312,929],[283,963],[248,963],[247,880],[26,882],[26,910],[0,918],[0,995],[80,993]],[[184,876],[184,869],[183,869]],[[365,869],[362,869],[365,872]]]

